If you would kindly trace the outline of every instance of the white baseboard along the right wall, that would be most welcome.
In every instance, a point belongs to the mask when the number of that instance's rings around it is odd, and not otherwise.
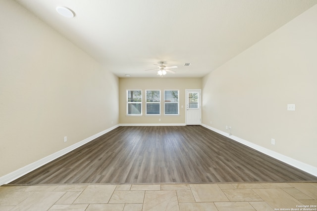
[[[226,136],[226,137],[228,137],[228,138],[230,138],[230,139],[232,139],[234,141],[237,141],[237,142],[242,143],[242,144],[244,144],[244,145],[246,145],[248,147],[251,147],[251,148],[253,148],[253,149],[255,149],[255,150],[259,151],[259,152],[262,152],[265,155],[268,155],[268,156],[270,156],[272,158],[275,158],[275,159],[277,159],[279,161],[282,161],[282,162],[284,162],[284,163],[286,163],[288,165],[291,165],[291,166],[293,166],[293,167],[295,167],[297,169],[301,169],[303,171],[306,171],[307,173],[310,173],[310,174],[312,174],[314,176],[317,176],[317,168],[314,167],[314,166],[305,164],[305,163],[297,161],[297,160],[295,160],[293,158],[290,158],[290,157],[287,157],[287,156],[282,155],[280,153],[277,153],[277,152],[274,152],[272,150],[266,149],[265,147],[262,147],[262,146],[259,146],[257,144],[251,143],[251,142],[246,141],[246,140],[244,140],[242,138],[239,138],[237,136],[229,135],[229,133],[223,132],[223,131],[218,130],[218,129],[214,128],[214,127],[210,127],[210,126],[205,125],[205,124],[202,124],[202,126],[208,128],[208,129],[210,129],[210,130],[212,130],[214,132],[217,132],[217,133],[219,133],[219,134],[221,134],[223,136]]]

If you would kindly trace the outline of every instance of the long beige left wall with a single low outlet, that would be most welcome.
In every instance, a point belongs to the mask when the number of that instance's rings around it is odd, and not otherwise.
[[[0,1],[0,177],[118,124],[118,103],[117,77]]]

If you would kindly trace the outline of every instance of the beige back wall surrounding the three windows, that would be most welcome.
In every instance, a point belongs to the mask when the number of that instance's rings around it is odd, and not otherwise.
[[[120,78],[120,124],[185,124],[185,89],[201,89],[201,78]],[[141,89],[143,97],[142,116],[126,115],[126,91],[128,89]],[[145,115],[145,90],[161,90],[161,115]],[[179,115],[164,115],[164,90],[179,90]],[[183,108],[182,108],[183,106]],[[160,119],[160,121],[159,121]]]

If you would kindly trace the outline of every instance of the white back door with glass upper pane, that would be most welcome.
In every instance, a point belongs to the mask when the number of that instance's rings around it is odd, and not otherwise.
[[[186,125],[201,125],[201,89],[186,89]]]

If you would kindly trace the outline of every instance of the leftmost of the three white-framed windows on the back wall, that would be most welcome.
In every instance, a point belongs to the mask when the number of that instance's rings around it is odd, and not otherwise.
[[[127,90],[127,115],[142,115],[142,90]]]

